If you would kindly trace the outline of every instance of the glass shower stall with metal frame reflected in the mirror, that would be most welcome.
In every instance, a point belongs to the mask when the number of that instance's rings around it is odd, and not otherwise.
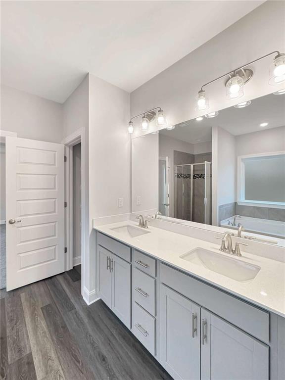
[[[211,224],[211,162],[175,165],[174,216]]]

